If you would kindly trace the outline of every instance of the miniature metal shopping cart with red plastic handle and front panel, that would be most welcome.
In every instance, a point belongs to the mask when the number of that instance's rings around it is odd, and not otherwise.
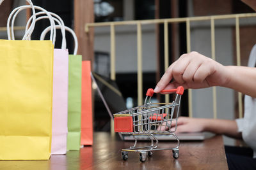
[[[148,89],[145,103],[143,106],[131,108],[114,114],[115,132],[130,134],[135,143],[127,149],[122,149],[122,159],[128,159],[128,152],[139,152],[140,161],[145,162],[148,157],[153,155],[155,150],[172,150],[173,157],[179,157],[179,139],[175,135],[177,129],[177,120],[179,115],[180,98],[184,92],[182,86],[177,89],[163,90],[162,92],[176,92],[175,101],[172,103],[152,103],[151,97],[154,94],[153,89]],[[172,127],[175,127],[173,130]],[[177,146],[174,148],[157,148],[158,140],[155,134],[172,135],[177,140]],[[147,136],[151,140],[150,146],[137,146],[136,136]],[[156,140],[156,143],[154,143]]]

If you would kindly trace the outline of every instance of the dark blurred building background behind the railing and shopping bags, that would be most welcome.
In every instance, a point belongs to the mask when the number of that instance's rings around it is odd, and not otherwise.
[[[115,22],[126,20],[149,20],[157,18],[199,17],[254,11],[240,0],[32,0],[35,5],[52,11],[63,19],[65,25],[74,29],[79,39],[79,53],[84,60],[91,60],[93,72],[113,85],[122,94],[122,99],[104,94],[111,111],[121,111],[138,105],[137,96],[137,44],[136,25],[115,27],[116,34],[116,80],[110,80],[110,29],[95,27],[89,33],[84,25],[91,22]],[[6,27],[10,11],[25,1],[6,0],[0,6],[0,27]],[[20,13],[16,26],[24,26],[30,16],[29,10]],[[191,50],[211,57],[210,21],[191,23]],[[236,64],[235,19],[215,21],[216,60],[223,65]],[[246,66],[250,50],[256,41],[256,19],[240,19],[241,66]],[[36,22],[32,39],[49,26],[48,20]],[[24,31],[15,31],[15,38],[21,39]],[[0,31],[0,38],[6,39],[6,31]],[[49,35],[47,37],[49,39]],[[47,39],[46,38],[46,39]],[[186,23],[168,24],[169,62],[186,53]],[[164,73],[164,26],[163,24],[142,25],[143,53],[143,95],[148,88],[156,86]],[[67,48],[73,52],[73,39],[67,34]],[[57,32],[56,48],[61,46],[61,34]],[[95,85],[93,85],[95,87]],[[104,91],[104,84],[100,85]],[[154,97],[163,102],[164,96]],[[94,131],[110,131],[110,119],[97,90],[93,90]],[[113,102],[114,101],[114,102]],[[170,98],[172,101],[172,97]],[[212,118],[212,89],[193,90],[193,117]],[[112,104],[111,104],[112,102]],[[122,106],[122,107],[115,107]],[[237,113],[237,93],[217,87],[218,118],[234,119]],[[188,92],[182,96],[180,114],[188,116]],[[235,141],[225,138],[225,143]]]

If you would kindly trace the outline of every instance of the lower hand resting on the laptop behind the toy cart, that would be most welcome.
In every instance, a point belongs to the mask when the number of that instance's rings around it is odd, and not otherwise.
[[[170,122],[168,122],[170,124]],[[176,121],[172,121],[171,132],[175,131]],[[158,131],[164,131],[165,124],[159,127]],[[168,131],[168,128],[165,129]],[[177,129],[175,132],[202,132],[205,131],[205,121],[203,118],[189,118],[189,117],[179,117],[177,122]]]

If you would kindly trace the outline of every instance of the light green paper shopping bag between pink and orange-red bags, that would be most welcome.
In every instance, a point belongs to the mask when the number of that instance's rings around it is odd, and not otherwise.
[[[67,150],[80,149],[82,56],[68,59],[68,138]]]

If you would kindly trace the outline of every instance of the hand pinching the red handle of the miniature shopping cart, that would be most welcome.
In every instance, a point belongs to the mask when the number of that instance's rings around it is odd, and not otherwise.
[[[163,89],[175,89],[180,85],[184,89],[223,86],[230,80],[229,72],[222,64],[198,52],[186,53],[168,67],[157,83],[154,92],[157,93]],[[174,81],[170,83],[172,79]]]

